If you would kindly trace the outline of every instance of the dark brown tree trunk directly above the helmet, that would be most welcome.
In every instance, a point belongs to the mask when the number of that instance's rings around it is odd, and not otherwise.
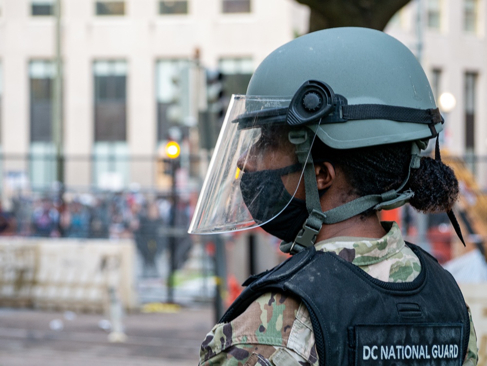
[[[384,30],[410,0],[297,0],[311,9],[309,31],[335,27]]]

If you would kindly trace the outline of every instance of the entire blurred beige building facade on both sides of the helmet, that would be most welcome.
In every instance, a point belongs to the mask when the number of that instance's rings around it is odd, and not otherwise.
[[[0,0],[3,191],[56,178],[55,5]],[[437,101],[454,96],[451,111],[442,107],[443,146],[453,154],[487,153],[486,7],[412,0],[386,29],[420,58]],[[295,0],[61,0],[66,185],[156,186],[181,70],[199,57],[203,68],[249,76],[270,51],[306,33],[308,14]],[[482,186],[483,172],[477,166]]]

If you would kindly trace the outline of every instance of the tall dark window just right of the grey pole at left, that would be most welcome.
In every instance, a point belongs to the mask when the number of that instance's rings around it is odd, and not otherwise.
[[[94,139],[126,140],[127,64],[125,61],[95,61]]]

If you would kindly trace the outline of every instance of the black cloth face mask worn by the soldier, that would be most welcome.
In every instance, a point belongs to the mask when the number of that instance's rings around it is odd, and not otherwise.
[[[294,241],[308,217],[308,210],[306,201],[287,192],[281,176],[300,170],[302,166],[297,163],[281,169],[244,172],[240,181],[245,205],[257,223],[265,222],[282,211],[261,227],[286,242]],[[324,191],[320,191],[320,195]]]

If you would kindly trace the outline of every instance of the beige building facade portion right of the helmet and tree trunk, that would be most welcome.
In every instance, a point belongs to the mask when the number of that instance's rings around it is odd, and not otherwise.
[[[386,28],[420,58],[446,115],[444,146],[453,154],[487,153],[486,16],[483,0],[413,0]],[[451,111],[443,93],[454,96]]]

